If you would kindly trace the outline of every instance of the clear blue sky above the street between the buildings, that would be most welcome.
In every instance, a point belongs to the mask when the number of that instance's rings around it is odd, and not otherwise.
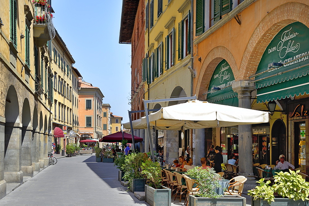
[[[119,44],[122,0],[53,0],[55,29],[86,82],[99,87],[103,103],[129,121],[131,44]]]

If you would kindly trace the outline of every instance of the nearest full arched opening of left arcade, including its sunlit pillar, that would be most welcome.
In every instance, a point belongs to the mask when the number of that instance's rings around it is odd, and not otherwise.
[[[11,85],[5,102],[4,127],[4,179],[7,183],[22,183],[21,172],[21,133],[19,102],[16,90]]]

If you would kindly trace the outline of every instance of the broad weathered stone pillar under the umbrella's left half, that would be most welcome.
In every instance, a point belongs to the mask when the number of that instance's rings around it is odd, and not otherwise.
[[[164,157],[165,164],[173,164],[174,160],[178,160],[179,151],[179,131],[164,130]]]

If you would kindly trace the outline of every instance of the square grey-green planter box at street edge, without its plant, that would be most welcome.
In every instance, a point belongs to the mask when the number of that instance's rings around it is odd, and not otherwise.
[[[145,200],[152,206],[170,206],[171,189],[162,186],[162,189],[155,189],[145,184]]]

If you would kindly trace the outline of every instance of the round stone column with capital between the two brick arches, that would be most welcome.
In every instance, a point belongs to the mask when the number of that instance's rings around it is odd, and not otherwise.
[[[240,80],[232,84],[233,91],[238,94],[238,106],[247,109],[251,109],[251,92],[255,90],[254,84],[248,84],[249,82],[248,80]],[[238,174],[248,179],[246,184],[255,185],[252,169],[251,124],[238,126],[238,153],[240,162]],[[253,187],[253,185],[251,187]],[[245,188],[248,189],[248,187]]]

